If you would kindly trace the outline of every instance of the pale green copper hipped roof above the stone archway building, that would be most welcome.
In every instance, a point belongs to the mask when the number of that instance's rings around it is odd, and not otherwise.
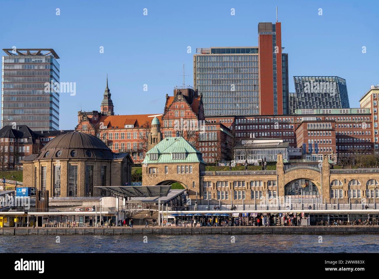
[[[184,159],[172,159],[172,153],[185,153]],[[150,160],[150,154],[158,154],[158,160]],[[147,151],[143,164],[157,163],[203,163],[202,153],[183,137],[165,137]]]

